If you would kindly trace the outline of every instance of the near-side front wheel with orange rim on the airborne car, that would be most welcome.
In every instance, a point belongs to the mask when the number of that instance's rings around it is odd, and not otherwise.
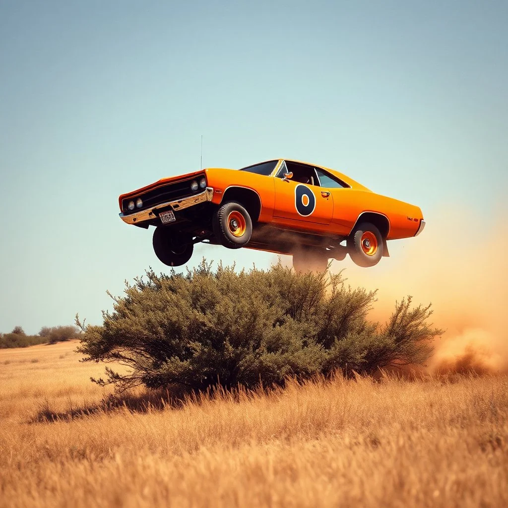
[[[250,215],[236,201],[228,201],[217,208],[212,226],[217,240],[230,249],[239,249],[246,245],[252,234]]]

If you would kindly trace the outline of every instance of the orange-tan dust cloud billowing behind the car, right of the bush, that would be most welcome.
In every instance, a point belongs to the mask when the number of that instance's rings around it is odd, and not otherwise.
[[[357,267],[349,257],[331,266],[346,268],[353,287],[378,290],[374,321],[385,322],[407,295],[417,305],[432,303],[431,321],[445,330],[426,366],[432,374],[508,371],[508,226],[470,215],[441,210],[417,238],[389,242],[392,256],[375,267]]]

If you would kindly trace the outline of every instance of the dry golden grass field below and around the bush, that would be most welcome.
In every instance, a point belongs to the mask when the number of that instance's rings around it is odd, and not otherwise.
[[[0,350],[2,507],[508,506],[508,376],[339,378],[67,418],[108,395],[75,347]]]

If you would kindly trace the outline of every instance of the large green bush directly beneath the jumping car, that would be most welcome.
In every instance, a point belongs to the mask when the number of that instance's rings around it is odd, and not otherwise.
[[[427,323],[430,305],[412,308],[407,298],[386,325],[370,323],[375,292],[347,287],[341,274],[295,273],[280,263],[240,273],[212,271],[205,261],[187,274],[150,270],[113,299],[102,326],[82,327],[78,351],[85,361],[128,367],[121,374],[107,367],[106,379],[96,380],[119,389],[252,387],[336,369],[372,373],[425,362],[441,333]]]

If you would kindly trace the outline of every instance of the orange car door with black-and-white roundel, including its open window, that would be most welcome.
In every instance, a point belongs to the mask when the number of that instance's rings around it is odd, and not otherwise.
[[[293,173],[293,176],[284,178],[283,175],[287,173]],[[284,161],[274,180],[275,222],[302,229],[316,229],[316,225],[330,224],[333,196],[328,189],[319,186],[312,166]]]

